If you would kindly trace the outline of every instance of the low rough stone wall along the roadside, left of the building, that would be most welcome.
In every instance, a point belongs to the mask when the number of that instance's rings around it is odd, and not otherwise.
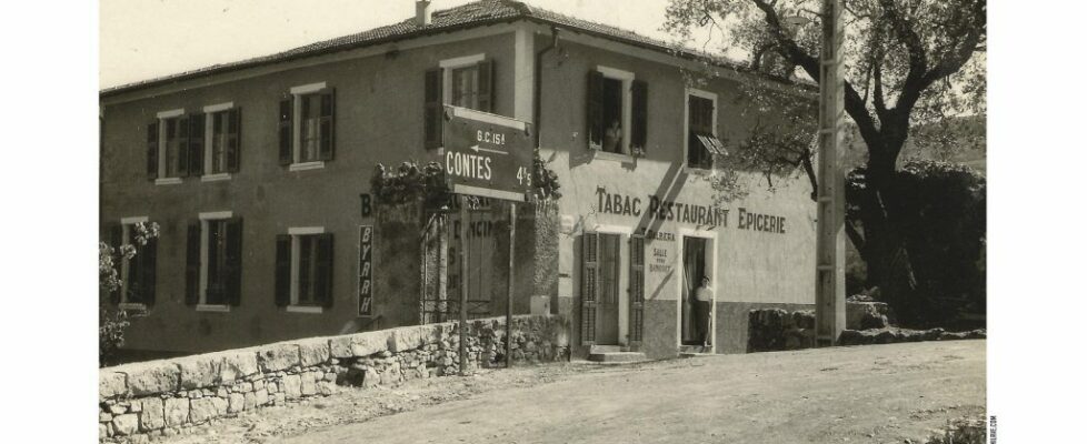
[[[505,317],[468,324],[469,369],[501,365]],[[513,361],[569,359],[561,316],[513,317]],[[217,417],[310,396],[337,385],[393,386],[455,375],[458,323],[312,337],[99,370],[99,438],[176,434]]]

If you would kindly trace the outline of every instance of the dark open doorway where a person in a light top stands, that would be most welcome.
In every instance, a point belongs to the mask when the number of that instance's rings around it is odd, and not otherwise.
[[[714,304],[712,294],[699,290],[709,280],[708,261],[709,240],[705,238],[684,236],[684,269],[682,269],[682,302],[681,302],[681,343],[682,345],[710,345],[712,342],[712,322],[710,320]]]

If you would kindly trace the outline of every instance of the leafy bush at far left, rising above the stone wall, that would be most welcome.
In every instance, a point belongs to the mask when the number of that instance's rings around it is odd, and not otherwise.
[[[137,223],[132,225],[132,240],[146,245],[158,238],[159,224]],[[98,365],[110,365],[117,350],[124,344],[124,330],[129,326],[128,313],[113,304],[110,299],[123,287],[120,265],[136,258],[134,244],[113,248],[106,242],[98,243]]]

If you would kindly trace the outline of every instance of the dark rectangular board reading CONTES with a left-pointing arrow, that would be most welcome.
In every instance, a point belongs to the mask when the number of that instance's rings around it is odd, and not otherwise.
[[[441,164],[457,194],[525,201],[532,190],[532,137],[520,120],[446,107]]]

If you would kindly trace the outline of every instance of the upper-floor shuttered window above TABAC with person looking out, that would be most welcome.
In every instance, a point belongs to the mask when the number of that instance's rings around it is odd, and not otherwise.
[[[648,84],[634,73],[607,67],[589,71],[587,87],[589,148],[599,152],[644,155]]]

